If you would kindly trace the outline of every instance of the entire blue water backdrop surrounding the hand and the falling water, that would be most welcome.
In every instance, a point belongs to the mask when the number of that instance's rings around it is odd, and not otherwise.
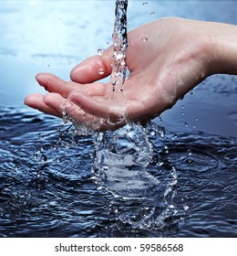
[[[114,1],[78,3],[1,1],[0,237],[236,237],[236,77],[211,76],[153,121],[146,197],[100,187],[94,137],[23,105],[44,92],[37,72],[68,79],[111,43]],[[161,16],[237,24],[236,1],[129,1],[129,29]]]

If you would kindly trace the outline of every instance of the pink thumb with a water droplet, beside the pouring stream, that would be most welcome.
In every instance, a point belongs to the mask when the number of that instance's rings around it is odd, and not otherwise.
[[[90,83],[108,77],[111,73],[112,48],[105,50],[101,56],[85,59],[70,73],[71,80]]]

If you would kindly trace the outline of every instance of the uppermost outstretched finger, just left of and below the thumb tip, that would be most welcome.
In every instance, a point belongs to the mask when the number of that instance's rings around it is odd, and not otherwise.
[[[76,84],[68,84],[65,80],[61,80],[53,74],[39,73],[36,75],[36,80],[46,91],[57,92],[65,98],[67,98],[70,91],[77,89]]]

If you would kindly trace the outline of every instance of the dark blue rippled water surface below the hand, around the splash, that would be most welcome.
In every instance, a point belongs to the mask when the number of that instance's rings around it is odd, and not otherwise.
[[[146,197],[123,197],[121,187],[111,191],[95,182],[92,135],[75,135],[69,126],[59,133],[54,118],[1,109],[0,236],[237,235],[236,138],[160,137],[161,125],[153,123],[147,178],[157,184]]]

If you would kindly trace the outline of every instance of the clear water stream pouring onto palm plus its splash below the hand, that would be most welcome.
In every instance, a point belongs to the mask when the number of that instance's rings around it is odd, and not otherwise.
[[[126,104],[123,93],[126,91],[126,51],[129,47],[127,6],[127,0],[116,1],[114,53],[111,63],[114,97],[111,104],[113,101]],[[122,223],[129,223],[141,229],[162,227],[164,219],[170,217],[170,203],[167,198],[170,197],[177,180],[175,169],[171,171],[171,181],[166,184],[160,184],[159,179],[147,171],[152,159],[150,129],[149,125],[143,127],[139,123],[128,123],[117,131],[96,133],[95,136],[93,173],[98,189],[105,188],[115,198],[125,202],[129,200],[131,205],[128,212],[118,212],[118,219]],[[116,201],[114,203],[116,204]]]

